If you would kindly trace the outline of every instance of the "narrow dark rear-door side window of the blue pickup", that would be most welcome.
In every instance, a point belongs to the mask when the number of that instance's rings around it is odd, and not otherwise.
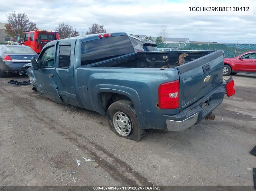
[[[71,46],[60,46],[59,50],[59,68],[69,68]]]

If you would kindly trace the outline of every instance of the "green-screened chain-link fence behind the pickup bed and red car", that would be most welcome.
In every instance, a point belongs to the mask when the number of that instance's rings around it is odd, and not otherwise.
[[[194,44],[194,43],[161,43],[158,48],[178,48],[180,50],[223,50],[225,58],[234,58],[242,53],[256,50],[256,44]]]

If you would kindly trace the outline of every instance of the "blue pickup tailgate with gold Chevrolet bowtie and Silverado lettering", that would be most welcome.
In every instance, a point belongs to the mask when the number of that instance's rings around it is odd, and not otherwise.
[[[176,67],[180,76],[180,110],[222,83],[224,52],[217,50]]]

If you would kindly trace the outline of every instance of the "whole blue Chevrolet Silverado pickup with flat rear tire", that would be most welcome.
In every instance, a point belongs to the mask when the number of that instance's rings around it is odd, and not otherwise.
[[[176,66],[178,56],[188,53]],[[168,56],[170,68],[163,56]],[[223,80],[222,50],[135,52],[126,33],[93,34],[47,43],[25,70],[51,100],[107,115],[118,136],[140,141],[145,129],[182,131],[235,93]]]

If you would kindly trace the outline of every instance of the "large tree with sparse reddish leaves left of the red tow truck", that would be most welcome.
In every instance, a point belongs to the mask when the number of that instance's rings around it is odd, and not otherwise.
[[[8,23],[5,24],[5,32],[10,37],[16,37],[17,35],[23,38],[24,31],[38,30],[36,24],[31,22],[28,15],[25,13],[16,14],[15,11],[7,15]]]

